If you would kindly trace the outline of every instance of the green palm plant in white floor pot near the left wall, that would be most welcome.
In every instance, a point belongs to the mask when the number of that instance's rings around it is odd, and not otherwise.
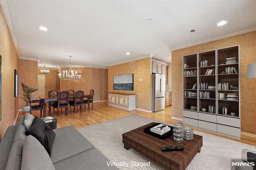
[[[30,87],[24,83],[21,83],[21,86],[22,86],[22,91],[23,91],[23,97],[20,97],[20,98],[22,98],[26,102],[26,106],[23,106],[22,110],[24,112],[28,112],[28,111],[30,111],[30,105],[28,103],[28,95],[31,100],[33,98],[32,93],[35,91],[38,91],[38,89],[33,89],[32,87]]]

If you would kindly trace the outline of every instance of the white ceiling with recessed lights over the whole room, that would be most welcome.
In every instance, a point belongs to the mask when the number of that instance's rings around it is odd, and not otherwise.
[[[1,0],[19,57],[106,68],[256,30],[256,0]],[[9,16],[9,17],[8,17]],[[152,20],[149,20],[152,18]],[[217,23],[226,20],[224,26]],[[48,31],[39,30],[45,26]],[[189,30],[196,30],[190,34]],[[130,52],[130,55],[126,55]]]

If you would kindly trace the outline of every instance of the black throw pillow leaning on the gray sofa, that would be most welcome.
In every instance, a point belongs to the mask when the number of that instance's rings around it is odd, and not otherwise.
[[[25,133],[27,136],[34,136],[44,146],[49,156],[51,156],[55,133],[49,125],[39,117],[35,117],[31,127]]]

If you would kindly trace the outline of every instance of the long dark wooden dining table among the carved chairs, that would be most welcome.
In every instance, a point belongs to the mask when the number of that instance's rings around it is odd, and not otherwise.
[[[88,110],[90,109],[90,95],[84,95],[84,98],[87,98],[88,103]],[[46,103],[50,101],[58,101],[58,96],[51,96],[51,97],[39,97],[40,101],[42,102],[43,107],[43,117],[46,117]],[[75,96],[69,96],[68,100],[74,100]],[[49,114],[51,116],[51,114]]]

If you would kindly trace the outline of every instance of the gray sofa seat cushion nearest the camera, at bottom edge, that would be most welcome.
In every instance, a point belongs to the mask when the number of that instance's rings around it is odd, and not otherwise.
[[[109,162],[97,148],[92,148],[58,162],[54,167],[56,170],[118,170],[116,166],[108,166]]]

